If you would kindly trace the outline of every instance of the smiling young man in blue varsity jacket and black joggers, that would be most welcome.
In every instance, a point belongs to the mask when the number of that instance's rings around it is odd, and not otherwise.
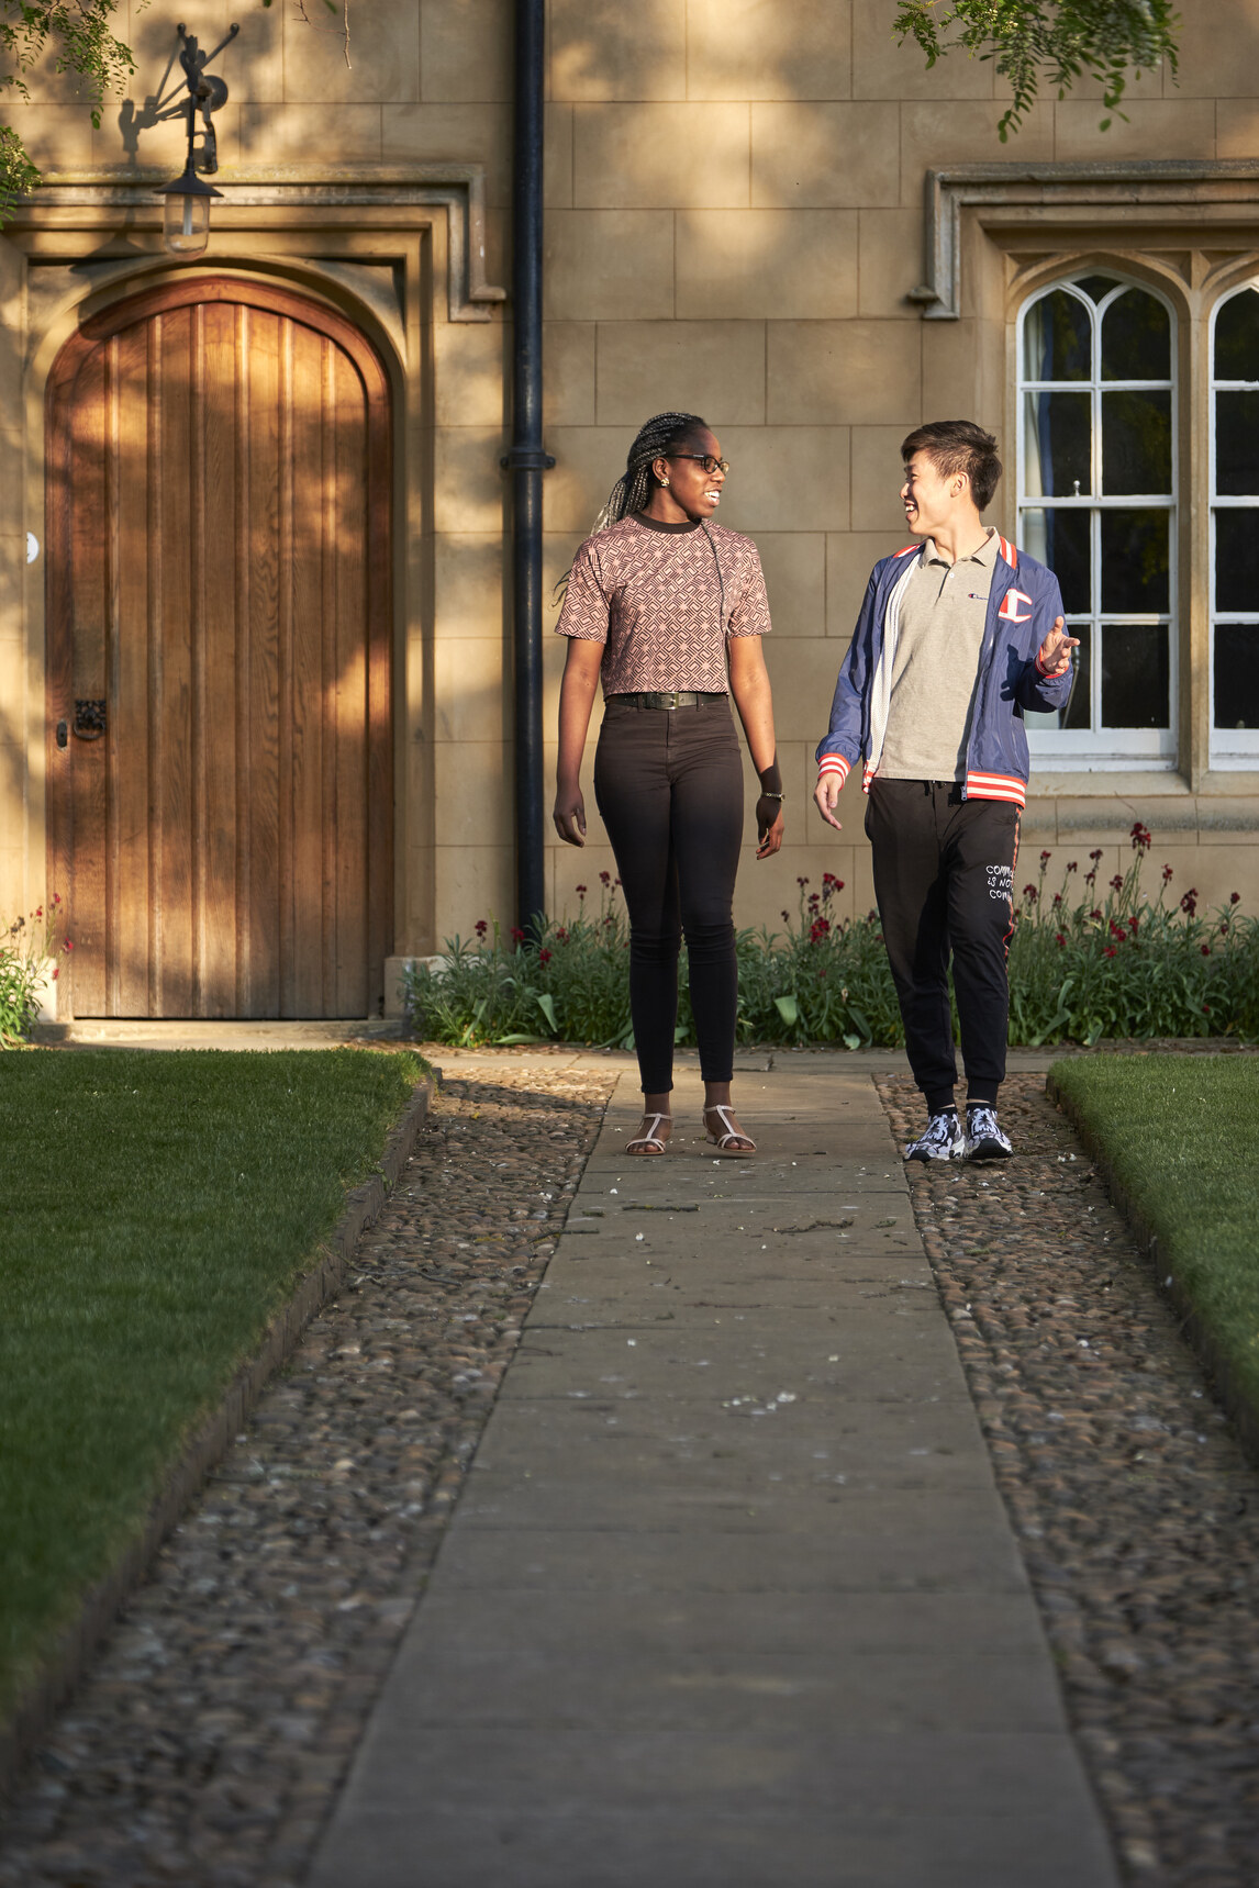
[[[997,440],[968,419],[910,432],[900,447],[910,544],[883,557],[817,746],[821,818],[865,765],[866,836],[914,1080],[927,1131],[906,1159],[1004,1159],[997,1121],[1006,1074],[1014,867],[1027,789],[1023,710],[1063,708],[1070,651],[1057,578],[985,529],[1000,478]],[[966,1125],[948,969],[961,1020]]]

